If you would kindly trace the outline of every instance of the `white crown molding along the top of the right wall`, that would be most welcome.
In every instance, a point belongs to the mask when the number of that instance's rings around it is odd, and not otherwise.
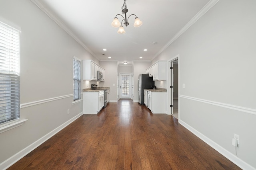
[[[154,55],[151,60],[154,60],[158,55],[160,55],[160,53],[162,53],[169,45],[171,45],[178,37],[180,37],[180,35],[182,35],[189,27],[191,27],[197,20],[199,20],[199,18],[201,18],[208,10],[210,10],[217,2],[219,2],[219,0],[210,0],[210,2],[208,2],[208,4],[206,4],[202,10],[200,10],[190,21],[188,21],[188,23],[186,23],[186,25],[182,27],[182,29],[180,29],[180,31],[178,31],[178,33],[176,33],[174,37],[172,37],[172,39],[170,39],[170,41],[168,41],[168,43],[158,53],[156,53],[156,55]]]

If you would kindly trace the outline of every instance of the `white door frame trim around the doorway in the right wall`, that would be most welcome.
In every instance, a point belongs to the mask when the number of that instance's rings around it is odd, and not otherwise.
[[[172,78],[171,78],[171,65],[172,62],[178,59],[178,101],[180,101],[180,55],[176,55],[175,57],[172,57],[171,59],[169,59],[167,61],[167,65],[168,65],[168,71],[167,71],[167,114],[171,115],[172,114],[172,108],[170,107],[172,101],[173,101],[173,96],[171,94],[171,90],[173,90],[173,88],[171,89],[170,86],[172,86]],[[180,111],[180,102],[178,102],[178,110]],[[180,114],[178,114],[178,118],[180,119]]]

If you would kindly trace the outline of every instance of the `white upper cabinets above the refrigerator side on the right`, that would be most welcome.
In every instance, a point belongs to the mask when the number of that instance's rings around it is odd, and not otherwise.
[[[147,70],[149,76],[153,76],[153,80],[166,80],[167,78],[167,62],[166,61],[157,61]]]

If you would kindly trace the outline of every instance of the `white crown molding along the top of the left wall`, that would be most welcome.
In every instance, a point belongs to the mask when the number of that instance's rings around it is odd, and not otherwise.
[[[50,10],[48,10],[44,3],[42,3],[40,0],[31,0],[38,8],[40,8],[46,15],[48,15],[54,22],[56,22],[64,31],[66,31],[72,38],[74,38],[82,47],[84,47],[89,53],[91,53],[96,59],[100,60],[86,45],[80,41],[78,37],[70,30],[68,27],[58,19]]]

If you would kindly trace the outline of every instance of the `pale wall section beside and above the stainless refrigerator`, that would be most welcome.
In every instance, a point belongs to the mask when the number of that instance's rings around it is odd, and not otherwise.
[[[138,77],[139,74],[146,74],[146,69],[151,65],[147,61],[134,61],[133,63],[133,79],[134,79],[134,102],[139,102],[139,92],[138,92]]]

